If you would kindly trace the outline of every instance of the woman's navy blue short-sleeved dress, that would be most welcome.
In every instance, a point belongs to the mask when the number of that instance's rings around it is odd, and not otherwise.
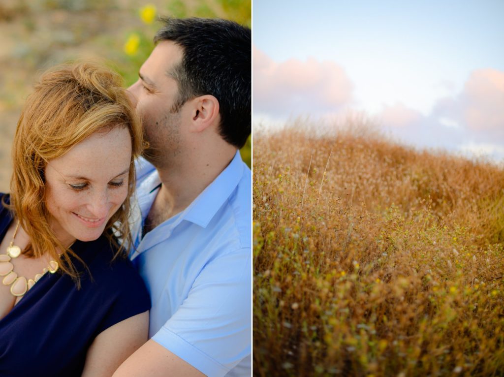
[[[3,239],[12,215],[0,207]],[[68,275],[46,273],[0,320],[0,376],[80,376],[98,334],[150,309],[142,278],[129,260],[111,262],[114,249],[105,236],[76,241],[72,249],[91,276],[76,260],[82,272],[79,290]]]

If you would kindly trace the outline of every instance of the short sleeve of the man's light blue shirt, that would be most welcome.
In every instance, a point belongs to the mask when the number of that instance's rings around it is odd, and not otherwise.
[[[210,261],[153,340],[206,375],[223,376],[251,352],[251,255]]]

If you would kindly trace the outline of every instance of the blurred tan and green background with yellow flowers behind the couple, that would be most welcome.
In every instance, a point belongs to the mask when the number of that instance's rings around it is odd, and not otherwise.
[[[150,54],[157,16],[220,17],[251,25],[251,0],[2,0],[0,2],[0,192],[9,191],[11,144],[21,107],[41,72],[100,59],[126,86]],[[250,138],[241,150],[250,166]]]

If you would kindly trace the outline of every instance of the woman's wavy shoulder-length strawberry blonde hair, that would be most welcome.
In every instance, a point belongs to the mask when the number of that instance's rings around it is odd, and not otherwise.
[[[58,241],[49,226],[44,170],[50,160],[65,155],[92,134],[116,127],[128,129],[132,144],[128,196],[104,231],[111,244],[118,247],[117,257],[126,255],[125,250],[132,244],[128,217],[135,189],[134,159],[143,148],[141,125],[120,76],[92,62],[49,70],[28,97],[14,137],[9,207],[30,237],[23,253],[34,258],[45,253],[60,258],[61,270],[77,283],[79,273],[70,257],[80,258]],[[113,233],[122,239],[121,245]],[[63,250],[59,257],[58,250]]]

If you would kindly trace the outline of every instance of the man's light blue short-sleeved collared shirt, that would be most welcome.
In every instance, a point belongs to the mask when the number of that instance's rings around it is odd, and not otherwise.
[[[184,211],[142,239],[159,175],[137,164],[132,227],[151,294],[149,337],[209,376],[251,375],[251,172],[239,152]]]

